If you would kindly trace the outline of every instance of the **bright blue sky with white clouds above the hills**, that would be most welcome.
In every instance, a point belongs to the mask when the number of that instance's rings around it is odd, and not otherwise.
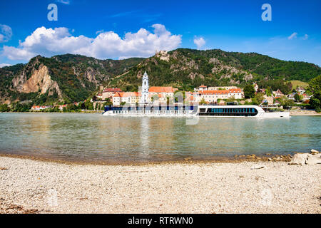
[[[262,16],[263,4],[270,14]],[[0,67],[37,55],[123,59],[176,48],[256,52],[321,66],[321,1],[0,1]]]

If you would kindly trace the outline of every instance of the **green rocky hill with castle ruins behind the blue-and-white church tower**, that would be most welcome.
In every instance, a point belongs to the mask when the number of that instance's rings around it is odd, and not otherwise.
[[[207,86],[244,86],[254,81],[310,81],[321,68],[312,63],[281,61],[258,53],[221,50],[177,49],[158,53],[135,66],[114,81],[115,85],[136,85],[147,71],[153,86],[173,85],[181,88]]]

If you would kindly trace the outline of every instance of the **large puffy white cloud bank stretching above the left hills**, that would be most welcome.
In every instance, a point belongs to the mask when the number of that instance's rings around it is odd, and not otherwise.
[[[3,56],[11,60],[26,60],[36,55],[54,56],[63,53],[81,54],[95,58],[130,58],[153,56],[156,50],[170,51],[181,43],[162,24],[154,24],[154,33],[145,28],[126,33],[121,38],[113,31],[98,33],[96,38],[71,36],[68,28],[37,28],[18,47],[4,46]]]

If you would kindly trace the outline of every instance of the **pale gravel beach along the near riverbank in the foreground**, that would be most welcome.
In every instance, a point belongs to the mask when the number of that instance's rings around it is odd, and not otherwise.
[[[321,166],[72,165],[0,157],[0,213],[317,213]]]

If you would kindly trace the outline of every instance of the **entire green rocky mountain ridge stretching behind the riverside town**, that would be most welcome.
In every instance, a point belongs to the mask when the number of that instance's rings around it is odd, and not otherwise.
[[[138,90],[147,71],[152,86],[240,86],[266,81],[310,81],[321,75],[313,63],[282,61],[258,53],[178,48],[150,58],[98,60],[65,54],[35,56],[29,63],[0,68],[0,103],[71,103],[85,100],[100,86]]]

